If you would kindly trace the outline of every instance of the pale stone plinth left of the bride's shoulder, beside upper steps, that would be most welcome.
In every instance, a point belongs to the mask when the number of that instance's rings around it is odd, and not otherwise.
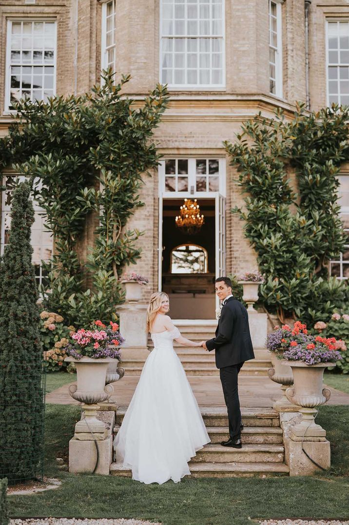
[[[125,339],[121,351],[121,361],[130,359],[145,360],[148,352],[148,333],[146,327],[147,305],[126,302],[118,307],[120,333]]]

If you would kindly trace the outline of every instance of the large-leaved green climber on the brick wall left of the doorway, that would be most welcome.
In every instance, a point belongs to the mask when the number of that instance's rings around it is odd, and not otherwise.
[[[118,277],[141,257],[141,232],[125,226],[143,205],[142,175],[158,164],[152,136],[168,102],[166,88],[157,85],[137,108],[121,94],[130,76],[115,85],[110,70],[103,78],[102,87],[83,96],[19,102],[19,119],[0,140],[0,166],[12,160],[30,177],[54,235],[55,255],[44,265],[48,282],[40,290],[45,308],[81,325],[112,318],[123,301]],[[97,227],[84,261],[78,254],[86,224]]]

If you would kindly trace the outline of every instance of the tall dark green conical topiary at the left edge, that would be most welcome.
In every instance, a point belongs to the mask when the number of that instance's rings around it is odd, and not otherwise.
[[[41,477],[43,469],[43,360],[27,182],[14,191],[11,216],[0,261],[0,477],[9,483]]]

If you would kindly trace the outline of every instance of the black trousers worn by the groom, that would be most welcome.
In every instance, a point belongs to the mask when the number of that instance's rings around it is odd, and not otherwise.
[[[223,387],[224,400],[228,409],[229,436],[231,439],[240,438],[240,402],[238,393],[238,375],[244,364],[232,364],[219,369],[220,381]]]

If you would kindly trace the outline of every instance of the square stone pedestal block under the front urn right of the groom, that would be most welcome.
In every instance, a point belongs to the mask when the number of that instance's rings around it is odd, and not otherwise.
[[[284,439],[285,461],[290,467],[290,476],[313,476],[321,469],[314,465],[304,454],[301,441],[293,441],[290,437]],[[307,441],[303,443],[304,450],[315,463],[324,469],[331,467],[330,442]]]

